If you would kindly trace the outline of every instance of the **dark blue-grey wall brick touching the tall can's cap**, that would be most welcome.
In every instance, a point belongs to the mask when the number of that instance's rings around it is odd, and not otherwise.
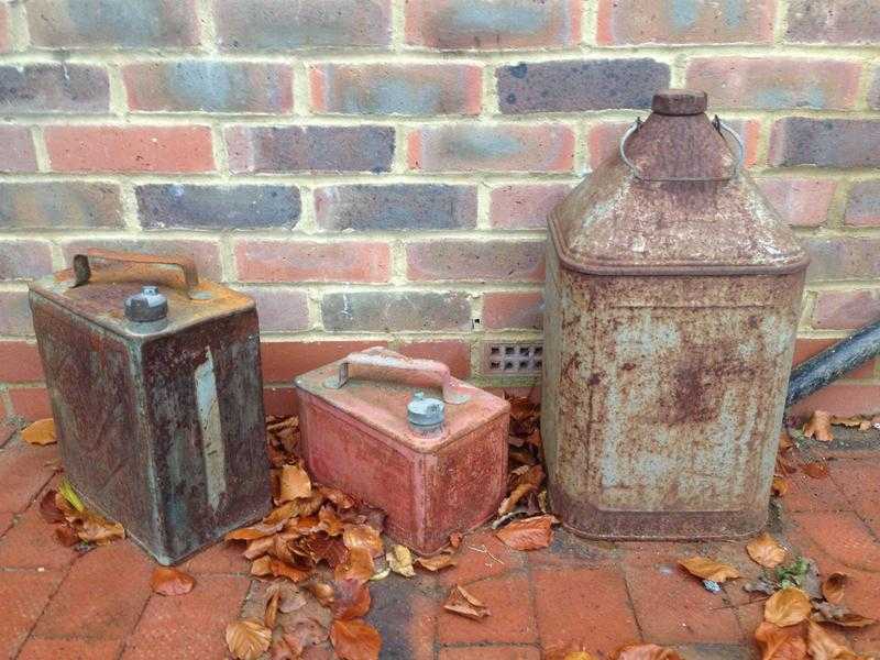
[[[669,87],[669,66],[644,58],[521,63],[496,76],[506,113],[649,108]]]

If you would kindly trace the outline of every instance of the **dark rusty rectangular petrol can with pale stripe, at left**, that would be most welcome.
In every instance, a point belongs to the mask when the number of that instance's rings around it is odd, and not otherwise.
[[[184,256],[92,250],[31,309],[65,473],[169,564],[264,515],[254,302]]]

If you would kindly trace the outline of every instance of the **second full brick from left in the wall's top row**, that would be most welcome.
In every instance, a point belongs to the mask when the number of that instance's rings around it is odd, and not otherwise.
[[[381,48],[391,43],[389,0],[217,0],[224,51]]]

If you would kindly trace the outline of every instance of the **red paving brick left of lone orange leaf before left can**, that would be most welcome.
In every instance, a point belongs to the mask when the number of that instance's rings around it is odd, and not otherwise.
[[[150,597],[153,568],[130,541],[88,552],[70,566],[34,634],[53,639],[127,637]]]

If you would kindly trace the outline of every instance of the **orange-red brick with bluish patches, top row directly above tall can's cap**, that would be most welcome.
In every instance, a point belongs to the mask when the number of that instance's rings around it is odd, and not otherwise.
[[[596,41],[610,44],[770,43],[772,0],[600,0]]]

